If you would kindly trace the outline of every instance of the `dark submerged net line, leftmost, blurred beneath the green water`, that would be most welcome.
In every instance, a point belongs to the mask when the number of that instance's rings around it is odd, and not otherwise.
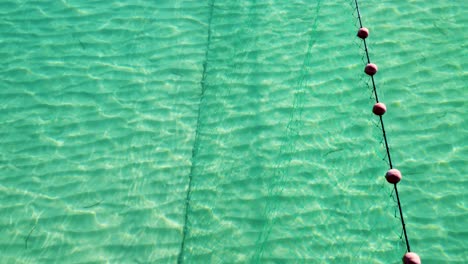
[[[193,180],[193,171],[195,169],[195,158],[197,157],[198,154],[198,145],[200,141],[200,133],[199,133],[199,128],[200,128],[200,112],[201,112],[201,106],[205,98],[205,91],[206,91],[206,69],[208,65],[208,54],[210,50],[210,43],[211,43],[211,20],[213,18],[213,7],[214,7],[214,1],[212,0],[210,3],[210,13],[209,13],[209,18],[208,18],[208,34],[207,34],[207,42],[206,42],[206,48],[205,48],[205,58],[203,61],[203,71],[202,71],[202,78],[200,81],[200,86],[201,86],[201,93],[200,93],[200,98],[198,102],[198,112],[197,112],[197,125],[195,128],[195,139],[192,147],[192,156],[191,156],[191,161],[192,165],[190,166],[190,173],[189,173],[189,182],[188,182],[188,187],[187,187],[187,194],[185,197],[185,213],[184,213],[184,226],[183,226],[183,231],[182,231],[182,242],[180,244],[180,250],[179,250],[179,255],[177,256],[177,263],[181,264],[183,262],[184,258],[184,251],[185,251],[185,239],[187,237],[187,231],[188,231],[188,212],[190,209],[190,200],[191,200],[191,194],[192,194],[192,180]]]

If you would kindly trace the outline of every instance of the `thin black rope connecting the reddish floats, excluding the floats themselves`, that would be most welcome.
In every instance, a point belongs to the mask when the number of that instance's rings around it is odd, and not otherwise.
[[[361,12],[359,11],[359,5],[358,5],[357,0],[354,0],[354,3],[356,4],[356,11],[357,11],[357,16],[358,16],[358,20],[359,20],[359,26],[362,28]],[[367,63],[370,63],[369,51],[367,49],[366,39],[363,38],[362,40],[364,41],[364,50],[366,52]],[[377,89],[375,88],[375,81],[374,81],[374,76],[373,75],[371,75],[371,79],[372,79],[372,87],[373,87],[373,91],[374,91],[374,95],[375,95],[375,100],[378,103],[379,102],[379,97],[377,95]],[[381,115],[380,115],[380,125],[382,127],[382,134],[383,134],[383,138],[384,138],[384,141],[385,141],[385,149],[387,150],[388,163],[390,165],[390,169],[393,169],[392,159],[390,157],[390,148],[388,147],[387,134],[385,133],[384,122],[383,122],[383,118],[382,118]],[[397,184],[395,183],[393,186],[394,186],[395,195],[396,195],[396,198],[397,198],[398,209],[400,211],[401,226],[403,227],[403,233],[405,235],[406,249],[408,250],[408,252],[411,252],[410,244],[409,244],[409,241],[408,241],[408,235],[406,234],[406,224],[405,224],[405,220],[403,218],[403,210],[401,209],[401,203],[400,203],[400,197],[398,195]]]

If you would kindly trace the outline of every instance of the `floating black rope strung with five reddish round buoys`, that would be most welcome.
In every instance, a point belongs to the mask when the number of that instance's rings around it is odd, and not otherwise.
[[[405,241],[406,241],[406,249],[408,250],[408,253],[406,253],[405,256],[403,257],[403,262],[404,263],[421,263],[421,260],[419,259],[419,256],[417,256],[414,253],[411,253],[410,243],[409,243],[408,235],[407,235],[407,232],[406,232],[406,224],[405,224],[405,220],[403,218],[403,210],[401,208],[400,197],[398,195],[398,188],[397,188],[397,183],[401,179],[401,173],[398,170],[393,169],[392,159],[391,159],[391,156],[390,156],[390,148],[388,146],[387,135],[385,133],[385,127],[384,127],[384,122],[383,122],[383,118],[382,118],[382,115],[386,111],[386,107],[385,107],[384,104],[379,102],[379,97],[377,95],[377,89],[376,89],[375,81],[374,81],[374,74],[377,73],[377,66],[375,64],[371,63],[370,58],[369,58],[369,51],[367,49],[366,38],[367,38],[367,36],[369,34],[369,31],[368,31],[367,28],[364,28],[362,26],[361,13],[359,11],[358,1],[354,0],[354,3],[356,5],[357,18],[358,18],[359,26],[360,26],[360,29],[359,29],[359,32],[358,32],[358,37],[360,37],[363,40],[364,50],[365,50],[366,57],[367,57],[367,66],[365,68],[365,72],[372,79],[372,87],[373,87],[373,92],[374,92],[375,100],[376,100],[376,104],[374,105],[373,112],[374,112],[374,114],[378,115],[379,118],[380,118],[380,124],[381,124],[381,128],[382,128],[382,135],[383,135],[384,142],[385,142],[385,149],[387,151],[388,163],[390,165],[390,170],[387,172],[386,178],[387,178],[387,181],[389,183],[392,183],[393,186],[394,186],[396,200],[397,200],[397,203],[398,203],[398,209],[400,211],[401,226],[403,227],[403,233],[404,233]]]

